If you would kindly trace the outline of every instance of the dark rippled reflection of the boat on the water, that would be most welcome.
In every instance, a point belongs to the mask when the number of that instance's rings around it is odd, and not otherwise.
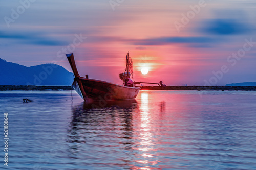
[[[102,159],[100,162],[109,164],[114,161],[112,152],[117,151],[116,155],[129,164],[133,161],[130,153],[134,145],[133,112],[137,112],[137,101],[110,101],[101,108],[95,108],[93,104],[83,102],[72,107],[67,137],[71,158],[84,158],[87,157],[84,156],[86,153],[93,153],[89,157],[96,162],[90,163],[97,164]],[[121,150],[124,155],[118,153]],[[102,157],[106,151],[110,152],[111,157]]]

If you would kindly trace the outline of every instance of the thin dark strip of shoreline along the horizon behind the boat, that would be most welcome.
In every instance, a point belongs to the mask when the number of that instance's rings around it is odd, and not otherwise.
[[[224,91],[256,91],[256,86],[139,86],[141,90],[224,90]],[[73,90],[71,86],[0,86],[0,91],[7,90],[33,90],[33,91],[60,91]]]

